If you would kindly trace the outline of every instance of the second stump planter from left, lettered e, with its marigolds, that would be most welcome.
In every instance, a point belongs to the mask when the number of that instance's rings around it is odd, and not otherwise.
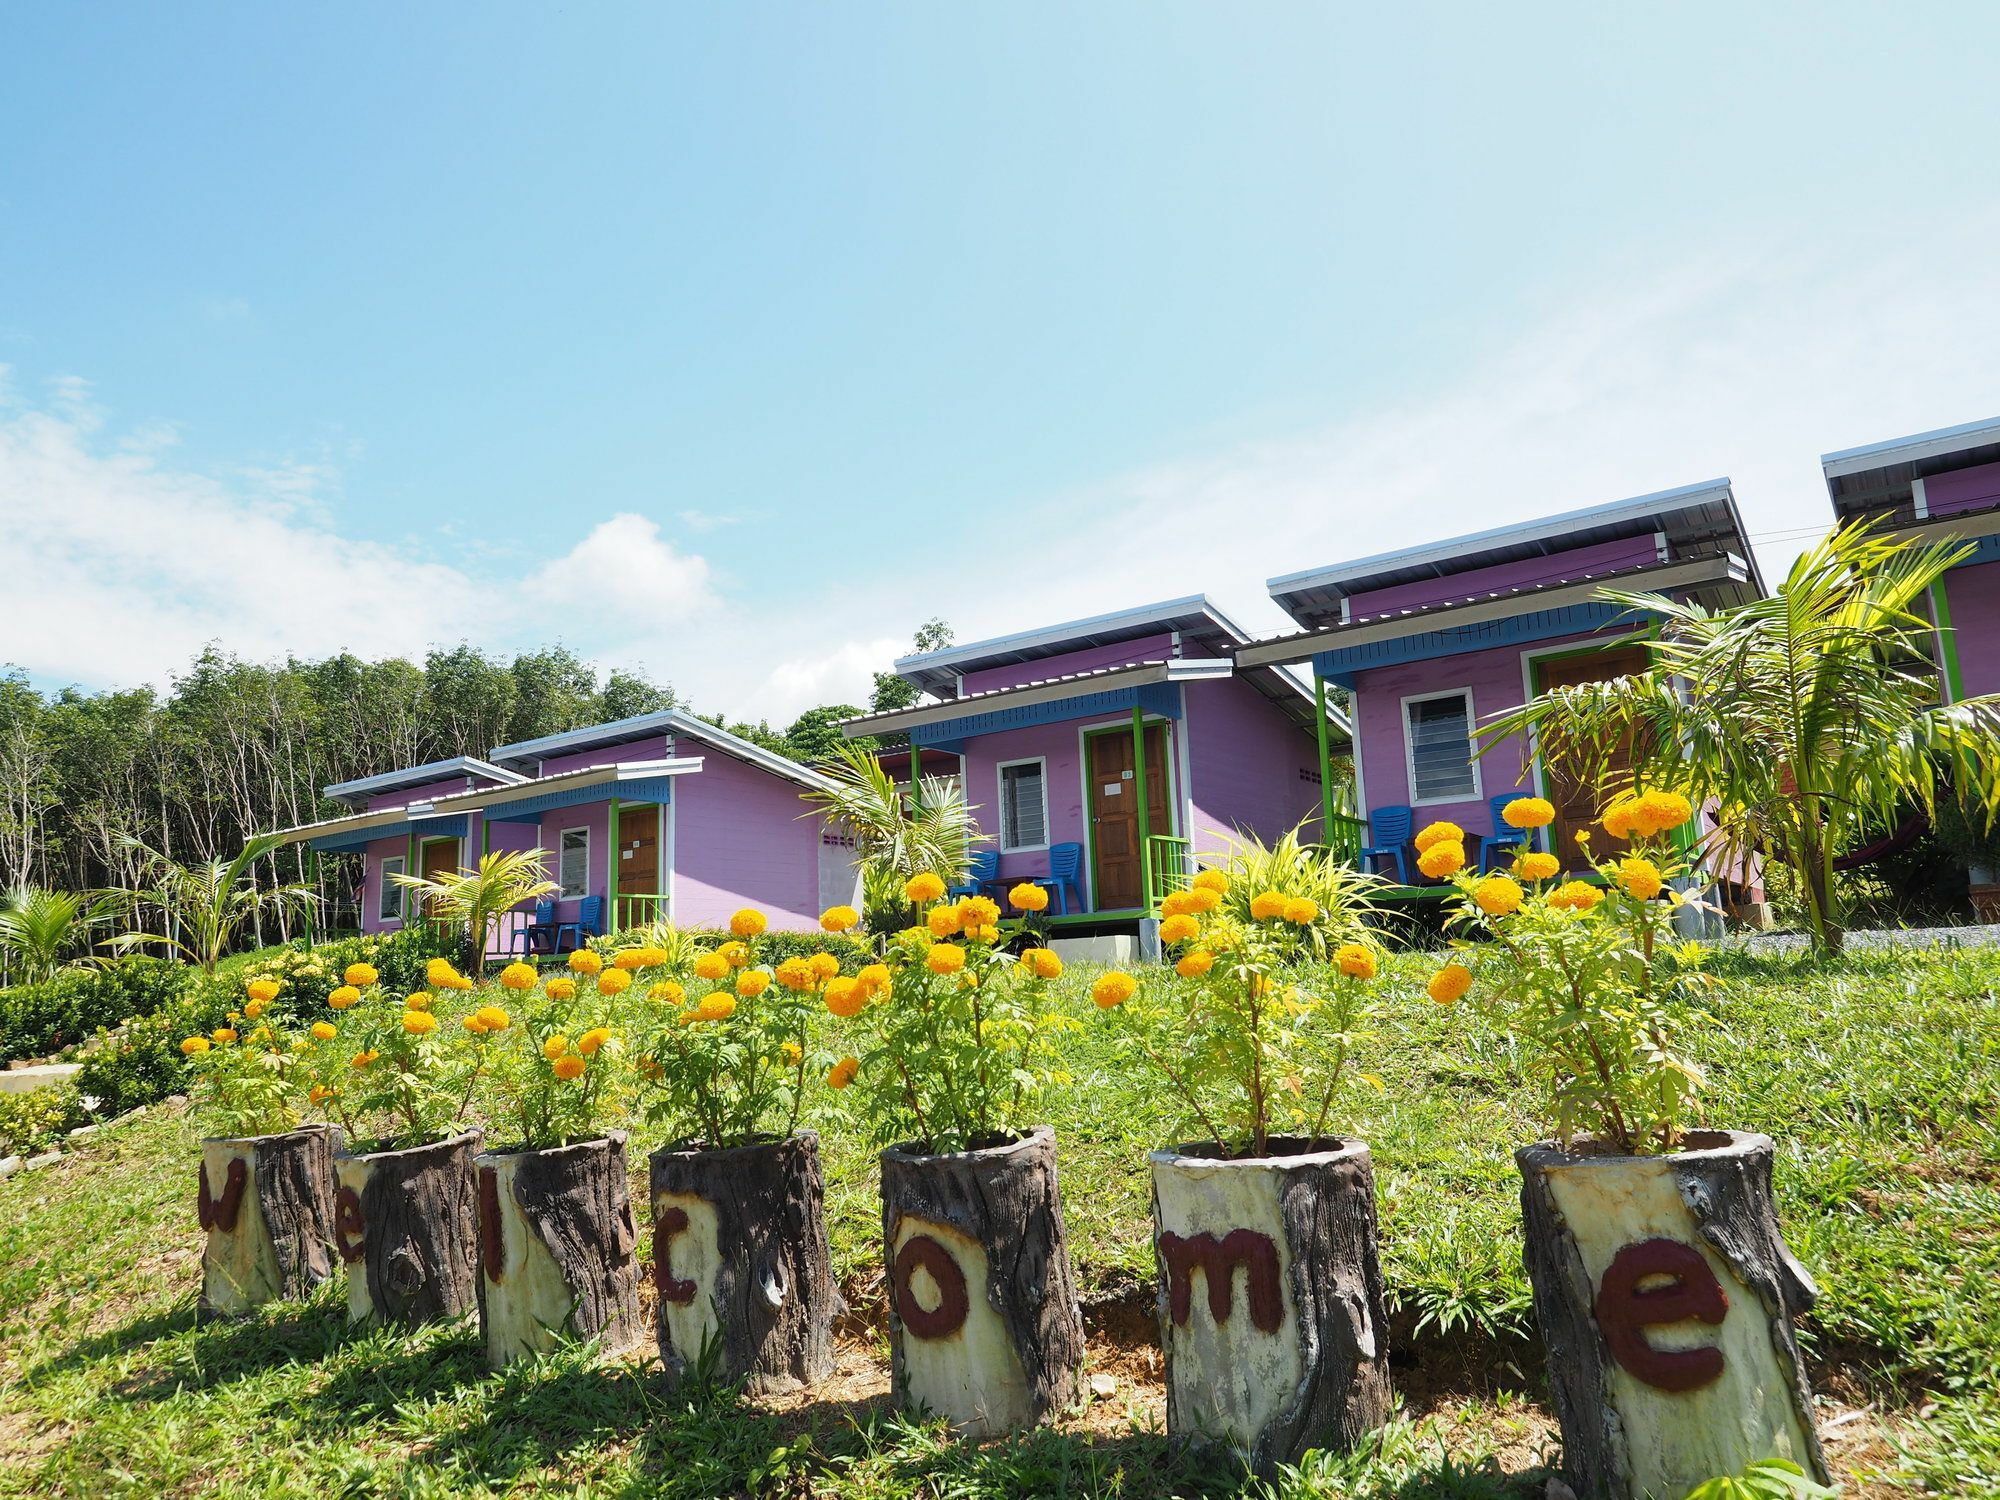
[[[534,984],[534,970],[526,976]],[[502,982],[520,988],[518,978]],[[446,996],[472,982],[442,958],[426,982],[394,998],[372,964],[348,964],[310,1030],[308,1102],[346,1138],[334,1158],[334,1250],[356,1324],[414,1326],[478,1304],[480,1132],[466,1118],[512,1016],[480,1006],[454,1024]]]

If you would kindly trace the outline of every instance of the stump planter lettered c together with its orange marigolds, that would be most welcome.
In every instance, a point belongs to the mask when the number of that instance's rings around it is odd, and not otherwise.
[[[822,918],[832,932],[850,908]],[[846,1310],[826,1242],[820,1138],[800,1130],[828,1058],[814,1016],[854,980],[828,954],[758,960],[764,914],[648,986],[638,1058],[646,1118],[674,1140],[650,1158],[660,1364],[750,1390],[814,1384],[834,1368]],[[654,954],[632,950],[638,968]],[[666,958],[666,954],[658,954]],[[614,962],[626,962],[620,954]]]

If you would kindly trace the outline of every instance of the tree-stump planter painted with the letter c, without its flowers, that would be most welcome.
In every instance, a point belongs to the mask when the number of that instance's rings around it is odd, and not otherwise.
[[[668,1384],[696,1370],[748,1390],[834,1372],[846,1312],[826,1246],[820,1138],[728,1150],[660,1148],[652,1164],[652,1270]],[[704,1358],[706,1354],[706,1358]]]

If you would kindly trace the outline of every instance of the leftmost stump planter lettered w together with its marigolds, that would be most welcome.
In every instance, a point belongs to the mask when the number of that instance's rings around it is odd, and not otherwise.
[[[306,1296],[334,1274],[338,1132],[300,1120],[306,1044],[268,1018],[276,980],[250,980],[242,1010],[180,1050],[202,1140],[196,1218],[204,1230],[204,1316],[240,1316]]]

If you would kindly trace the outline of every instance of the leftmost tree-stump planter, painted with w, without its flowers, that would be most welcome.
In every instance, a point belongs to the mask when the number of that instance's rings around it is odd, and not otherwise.
[[[202,1142],[200,1316],[292,1302],[334,1274],[334,1126]]]

